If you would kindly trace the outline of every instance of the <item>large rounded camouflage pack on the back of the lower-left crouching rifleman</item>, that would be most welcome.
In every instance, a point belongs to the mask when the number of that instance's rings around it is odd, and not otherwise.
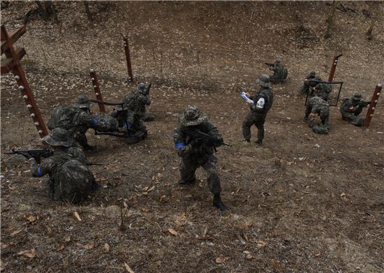
[[[54,182],[54,199],[70,203],[82,202],[89,195],[94,175],[84,163],[75,159],[59,165]]]

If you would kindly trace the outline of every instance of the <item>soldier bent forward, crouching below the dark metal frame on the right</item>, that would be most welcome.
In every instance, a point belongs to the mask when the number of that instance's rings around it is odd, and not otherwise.
[[[320,116],[320,124],[315,122],[315,115]],[[311,116],[311,117],[310,117]],[[330,120],[330,105],[323,98],[314,96],[307,102],[304,120],[314,133],[326,134],[329,131],[328,122]]]

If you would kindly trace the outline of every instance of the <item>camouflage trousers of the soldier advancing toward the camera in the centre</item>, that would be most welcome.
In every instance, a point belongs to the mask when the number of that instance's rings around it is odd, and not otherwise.
[[[203,156],[184,156],[180,163],[180,175],[185,182],[195,180],[197,168],[202,167],[207,172],[207,185],[209,191],[214,194],[221,192],[219,175],[216,169],[217,158],[214,154],[205,154]]]

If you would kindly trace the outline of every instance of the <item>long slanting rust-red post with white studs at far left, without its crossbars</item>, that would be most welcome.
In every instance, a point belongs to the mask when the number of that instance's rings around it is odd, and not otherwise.
[[[15,33],[15,31],[13,33]],[[20,36],[18,38],[20,38]],[[40,135],[40,138],[43,138],[45,135],[47,135],[48,131],[45,127],[43,117],[41,117],[40,110],[38,109],[38,106],[36,104],[34,94],[32,93],[31,88],[29,87],[27,78],[25,77],[25,73],[20,64],[19,54],[17,54],[15,49],[13,48],[13,41],[17,39],[11,39],[8,36],[6,27],[4,27],[3,25],[1,26],[1,40],[4,42],[2,43],[1,48],[6,48],[6,50],[4,50],[4,54],[6,55],[7,59],[12,59],[11,63],[13,63],[13,66],[10,71],[13,73],[13,75],[15,75],[17,86],[19,87],[22,98],[24,98],[24,101],[27,104],[27,108],[31,113],[31,118],[33,119],[34,125],[38,130],[38,134]]]

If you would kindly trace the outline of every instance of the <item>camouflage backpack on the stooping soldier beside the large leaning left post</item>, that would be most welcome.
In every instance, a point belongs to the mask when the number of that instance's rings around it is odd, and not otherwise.
[[[73,121],[79,108],[71,105],[59,105],[54,108],[50,119],[48,120],[47,126],[52,131],[54,128],[63,128],[68,130],[72,127]]]

